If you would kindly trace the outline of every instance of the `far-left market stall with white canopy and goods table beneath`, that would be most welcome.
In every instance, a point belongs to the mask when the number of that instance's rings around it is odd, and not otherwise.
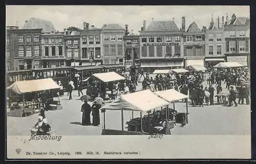
[[[16,93],[16,102],[11,103],[12,105],[10,106],[11,110],[9,115],[27,116],[33,114],[35,108],[38,109],[42,102],[38,97],[36,97],[36,99],[31,98],[32,93],[35,95],[35,93],[39,93],[41,91],[48,91],[58,88],[59,86],[51,78],[14,82],[12,85],[7,87],[8,90],[12,90]],[[52,101],[51,104],[54,104],[54,101]],[[54,105],[56,105],[56,108],[61,108],[59,101],[57,101]]]

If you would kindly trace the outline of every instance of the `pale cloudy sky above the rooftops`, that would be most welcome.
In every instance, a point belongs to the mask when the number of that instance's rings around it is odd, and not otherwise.
[[[89,22],[101,28],[103,24],[119,24],[123,28],[129,25],[129,31],[139,34],[146,20],[146,26],[154,20],[173,20],[181,28],[181,17],[186,18],[186,29],[195,21],[200,29],[209,27],[211,14],[217,17],[232,14],[237,17],[250,17],[249,6],[6,6],[7,26],[22,28],[30,17],[50,20],[56,30],[74,26],[83,28],[83,22]]]

